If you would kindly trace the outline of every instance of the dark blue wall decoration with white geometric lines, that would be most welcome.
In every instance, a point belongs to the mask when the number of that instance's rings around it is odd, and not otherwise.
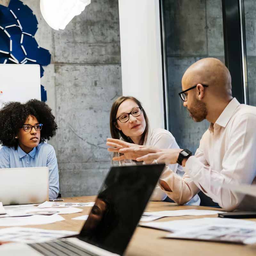
[[[39,64],[41,77],[44,75],[42,66],[50,64],[51,54],[36,42],[37,24],[36,15],[21,1],[0,5],[0,63]],[[42,85],[41,98],[47,100]]]

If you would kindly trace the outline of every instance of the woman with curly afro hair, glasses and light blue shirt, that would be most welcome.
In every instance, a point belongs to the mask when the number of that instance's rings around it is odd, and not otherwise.
[[[44,143],[56,134],[51,108],[43,101],[9,102],[0,110],[0,168],[49,168],[49,198],[59,193],[54,148]]]

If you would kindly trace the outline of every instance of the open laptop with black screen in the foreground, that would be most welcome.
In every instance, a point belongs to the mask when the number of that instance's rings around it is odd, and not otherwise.
[[[19,253],[34,256],[123,255],[164,166],[112,167],[79,235],[22,245],[26,249]],[[10,248],[11,244],[5,255],[13,255]]]

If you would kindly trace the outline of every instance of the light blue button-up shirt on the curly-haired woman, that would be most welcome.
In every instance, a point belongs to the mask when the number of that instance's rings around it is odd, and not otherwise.
[[[49,168],[49,198],[56,198],[59,193],[59,172],[54,148],[40,143],[28,154],[20,146],[3,147],[0,150],[0,168],[45,167]]]

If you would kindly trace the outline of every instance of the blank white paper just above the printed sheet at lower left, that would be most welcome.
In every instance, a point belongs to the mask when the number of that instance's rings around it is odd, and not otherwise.
[[[8,226],[26,226],[26,225],[44,225],[54,223],[56,221],[65,220],[58,214],[53,215],[32,215],[25,217],[6,217],[0,219],[1,227]]]

